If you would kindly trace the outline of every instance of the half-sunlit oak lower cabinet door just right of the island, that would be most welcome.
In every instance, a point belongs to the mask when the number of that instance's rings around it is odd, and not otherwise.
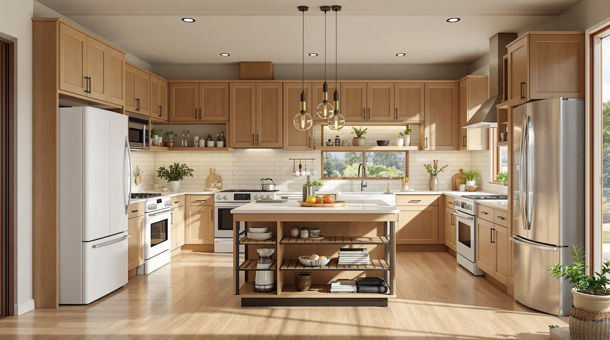
[[[439,207],[397,207],[397,244],[437,244],[439,241]]]

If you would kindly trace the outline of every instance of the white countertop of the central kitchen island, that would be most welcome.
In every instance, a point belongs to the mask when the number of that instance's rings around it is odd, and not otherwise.
[[[345,207],[301,207],[297,200],[285,203],[251,202],[231,209],[232,214],[398,214],[400,211],[382,200],[348,200]]]

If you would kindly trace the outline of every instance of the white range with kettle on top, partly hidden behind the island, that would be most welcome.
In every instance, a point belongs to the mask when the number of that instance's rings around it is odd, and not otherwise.
[[[218,191],[214,196],[214,252],[233,252],[233,216],[231,209],[257,199],[276,199],[276,191],[231,189]],[[240,222],[239,232],[246,230],[247,222]],[[239,252],[243,253],[243,246]]]

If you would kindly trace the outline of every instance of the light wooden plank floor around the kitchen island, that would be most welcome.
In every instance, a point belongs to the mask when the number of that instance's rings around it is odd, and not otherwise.
[[[389,307],[242,308],[232,255],[182,253],[88,306],[0,320],[4,339],[549,339],[529,310],[449,253],[397,253]],[[543,294],[544,292],[541,292]]]

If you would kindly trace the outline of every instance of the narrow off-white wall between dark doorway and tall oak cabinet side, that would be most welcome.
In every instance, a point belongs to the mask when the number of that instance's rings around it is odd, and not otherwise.
[[[0,35],[15,41],[15,314],[32,300],[32,15],[31,0],[0,0]]]

